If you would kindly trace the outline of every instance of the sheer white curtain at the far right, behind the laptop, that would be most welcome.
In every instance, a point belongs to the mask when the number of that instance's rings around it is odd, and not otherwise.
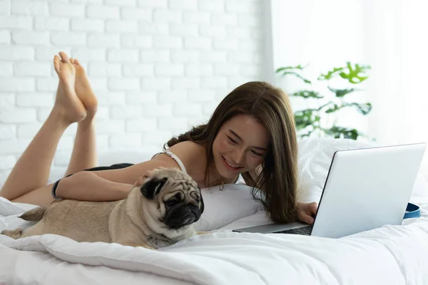
[[[379,142],[428,140],[428,2],[366,1],[367,60],[374,103],[370,133]]]

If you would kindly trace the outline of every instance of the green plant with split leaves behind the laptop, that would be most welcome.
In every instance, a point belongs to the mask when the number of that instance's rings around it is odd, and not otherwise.
[[[312,88],[312,81],[308,80],[302,75],[302,71],[306,66],[286,66],[277,68],[275,73],[280,76],[294,76],[304,83],[303,88],[297,90],[294,93],[290,93],[291,96],[300,98],[311,98],[315,100],[323,100],[326,103],[322,103],[317,108],[307,108],[305,110],[297,110],[294,113],[295,123],[297,128],[297,134],[300,138],[308,137],[310,135],[327,136],[333,138],[349,138],[357,140],[359,136],[364,136],[360,130],[355,128],[345,128],[337,124],[336,113],[339,110],[345,108],[355,108],[362,115],[367,115],[372,110],[372,104],[370,103],[355,103],[346,102],[346,98],[349,98],[351,93],[357,90],[355,86],[365,81],[367,76],[367,70],[370,66],[360,66],[359,64],[346,63],[346,66],[333,68],[332,71],[328,71],[325,74],[321,74],[317,77],[317,81],[324,81],[329,90],[328,95],[322,94],[320,91]],[[334,88],[332,86],[332,80],[335,81],[335,86],[341,86],[341,83],[345,82],[345,88]],[[341,82],[340,82],[341,81]],[[326,126],[325,121],[328,117],[334,118],[334,122]]]

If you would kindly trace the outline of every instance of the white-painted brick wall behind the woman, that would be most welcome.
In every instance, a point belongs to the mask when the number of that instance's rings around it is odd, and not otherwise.
[[[83,63],[98,96],[100,150],[161,150],[266,78],[262,13],[263,0],[0,0],[0,186],[54,104],[58,51]]]

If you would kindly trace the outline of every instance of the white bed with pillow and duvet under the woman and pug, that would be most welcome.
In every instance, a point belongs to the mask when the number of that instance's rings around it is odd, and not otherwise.
[[[300,140],[300,201],[320,199],[335,150],[367,145]],[[340,239],[232,232],[270,221],[247,186],[226,186],[203,190],[197,227],[210,234],[158,251],[52,234],[0,236],[0,284],[428,284],[428,185],[420,174],[411,202],[422,217]],[[17,216],[31,207],[0,199],[0,230],[29,227]]]

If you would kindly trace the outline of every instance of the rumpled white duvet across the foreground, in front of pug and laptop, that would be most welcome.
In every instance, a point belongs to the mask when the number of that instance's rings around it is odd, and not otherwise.
[[[0,284],[428,284],[428,199],[412,201],[422,218],[342,239],[228,232],[263,211],[159,251],[0,237]]]

